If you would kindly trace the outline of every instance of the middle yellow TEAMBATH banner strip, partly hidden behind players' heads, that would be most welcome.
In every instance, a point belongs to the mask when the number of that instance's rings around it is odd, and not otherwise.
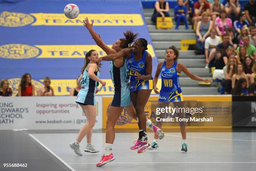
[[[111,45],[108,45],[111,48]],[[84,58],[85,54],[95,49],[100,57],[107,55],[97,45],[23,45],[7,44],[0,46],[0,57],[8,59],[26,58]],[[152,58],[155,53],[152,45],[148,45],[148,53]]]

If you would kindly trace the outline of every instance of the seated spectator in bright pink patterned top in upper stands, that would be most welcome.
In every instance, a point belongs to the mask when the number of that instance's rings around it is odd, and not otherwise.
[[[220,16],[215,20],[215,28],[219,36],[226,33],[225,29],[232,28],[232,20],[227,17],[225,10],[220,10]]]

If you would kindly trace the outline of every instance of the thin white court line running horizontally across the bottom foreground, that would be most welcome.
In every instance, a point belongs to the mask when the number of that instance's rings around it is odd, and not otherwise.
[[[141,163],[256,163],[256,162],[236,162],[236,161],[230,161],[230,162],[222,162],[222,161],[216,161],[216,162],[109,162],[113,164],[141,164]],[[96,163],[68,163],[68,164],[96,164]]]

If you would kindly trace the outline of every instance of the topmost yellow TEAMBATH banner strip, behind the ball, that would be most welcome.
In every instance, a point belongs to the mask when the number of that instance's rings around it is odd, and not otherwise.
[[[34,18],[36,20],[34,20]],[[138,26],[144,25],[140,14],[79,14],[75,19],[69,19],[64,14],[53,13],[13,13],[4,11],[0,15],[0,25],[5,27],[20,27],[24,25],[74,25],[81,26],[84,18],[94,20],[96,26]]]

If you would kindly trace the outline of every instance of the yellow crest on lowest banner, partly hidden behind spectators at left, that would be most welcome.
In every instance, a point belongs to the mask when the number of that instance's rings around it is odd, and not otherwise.
[[[10,79],[8,79],[8,83],[9,83],[10,88],[12,88],[12,90],[13,90],[13,96],[17,96],[18,95],[18,87],[20,85],[20,78],[10,78]],[[37,95],[38,89],[43,87],[44,84],[42,84],[36,80],[31,80],[31,83],[35,86],[36,95]]]

